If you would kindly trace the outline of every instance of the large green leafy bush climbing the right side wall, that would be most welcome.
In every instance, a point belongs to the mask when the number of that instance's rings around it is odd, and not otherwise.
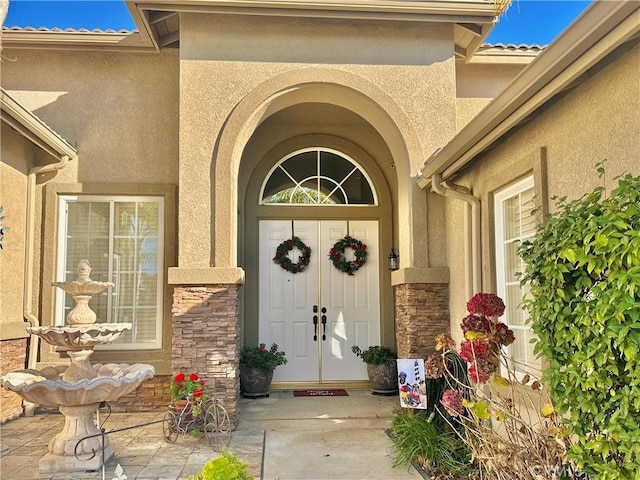
[[[599,169],[602,176],[604,170]],[[519,250],[543,375],[577,442],[570,456],[598,479],[640,478],[640,177],[608,198],[556,198],[556,213]]]

